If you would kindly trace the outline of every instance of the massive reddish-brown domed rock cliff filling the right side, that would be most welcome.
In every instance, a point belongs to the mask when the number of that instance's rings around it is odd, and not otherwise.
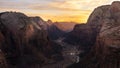
[[[88,23],[97,38],[90,53],[70,68],[120,68],[120,2],[96,8]]]

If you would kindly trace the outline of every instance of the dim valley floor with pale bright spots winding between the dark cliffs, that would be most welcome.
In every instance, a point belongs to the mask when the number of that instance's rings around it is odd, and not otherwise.
[[[78,50],[77,46],[67,44],[65,42],[62,42],[62,40],[63,38],[59,38],[55,42],[63,47],[62,55],[64,57],[64,60],[50,63],[43,66],[42,68],[66,68],[73,63],[79,62],[78,54],[80,54],[80,51]]]

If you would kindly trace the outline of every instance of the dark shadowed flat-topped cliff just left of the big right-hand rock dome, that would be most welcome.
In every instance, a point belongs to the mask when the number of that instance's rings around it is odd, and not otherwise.
[[[64,42],[78,45],[80,49],[88,50],[93,45],[93,39],[91,27],[86,24],[78,24],[75,25],[73,31],[66,35]]]

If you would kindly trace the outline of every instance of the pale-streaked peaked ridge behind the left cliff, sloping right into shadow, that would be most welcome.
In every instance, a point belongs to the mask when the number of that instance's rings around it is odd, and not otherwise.
[[[30,17],[33,25],[40,30],[45,30],[51,40],[56,40],[64,35],[64,31],[60,30],[51,20],[44,21],[40,17]]]

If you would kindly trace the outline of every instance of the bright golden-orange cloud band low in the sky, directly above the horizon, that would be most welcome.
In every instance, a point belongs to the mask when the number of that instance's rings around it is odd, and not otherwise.
[[[82,11],[66,11],[66,13],[39,13],[39,12],[27,12],[29,16],[40,16],[44,20],[51,19],[53,22],[77,22],[77,23],[86,23],[91,11],[82,10]]]

